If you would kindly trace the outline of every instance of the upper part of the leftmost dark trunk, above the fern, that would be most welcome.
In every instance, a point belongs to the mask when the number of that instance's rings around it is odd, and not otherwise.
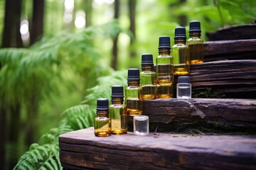
[[[5,4],[2,47],[22,47],[20,23],[22,0],[9,0]]]

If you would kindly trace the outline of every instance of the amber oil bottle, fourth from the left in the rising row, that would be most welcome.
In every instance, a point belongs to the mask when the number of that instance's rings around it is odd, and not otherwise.
[[[142,55],[142,72],[140,72],[140,86],[142,100],[152,100],[156,98],[156,72],[154,72],[153,55]]]

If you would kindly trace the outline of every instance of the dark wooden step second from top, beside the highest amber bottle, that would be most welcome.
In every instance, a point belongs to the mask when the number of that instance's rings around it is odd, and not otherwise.
[[[256,60],[256,39],[219,40],[204,43],[205,62],[220,60]]]

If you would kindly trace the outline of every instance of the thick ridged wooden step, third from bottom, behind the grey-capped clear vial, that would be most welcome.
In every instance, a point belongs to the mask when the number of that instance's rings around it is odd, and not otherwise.
[[[193,94],[207,89],[225,98],[256,98],[256,60],[227,60],[191,65]]]

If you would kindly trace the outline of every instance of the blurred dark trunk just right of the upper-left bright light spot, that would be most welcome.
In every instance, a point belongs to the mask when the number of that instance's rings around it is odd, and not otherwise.
[[[43,34],[44,0],[33,0],[33,18],[31,23],[31,44]]]

